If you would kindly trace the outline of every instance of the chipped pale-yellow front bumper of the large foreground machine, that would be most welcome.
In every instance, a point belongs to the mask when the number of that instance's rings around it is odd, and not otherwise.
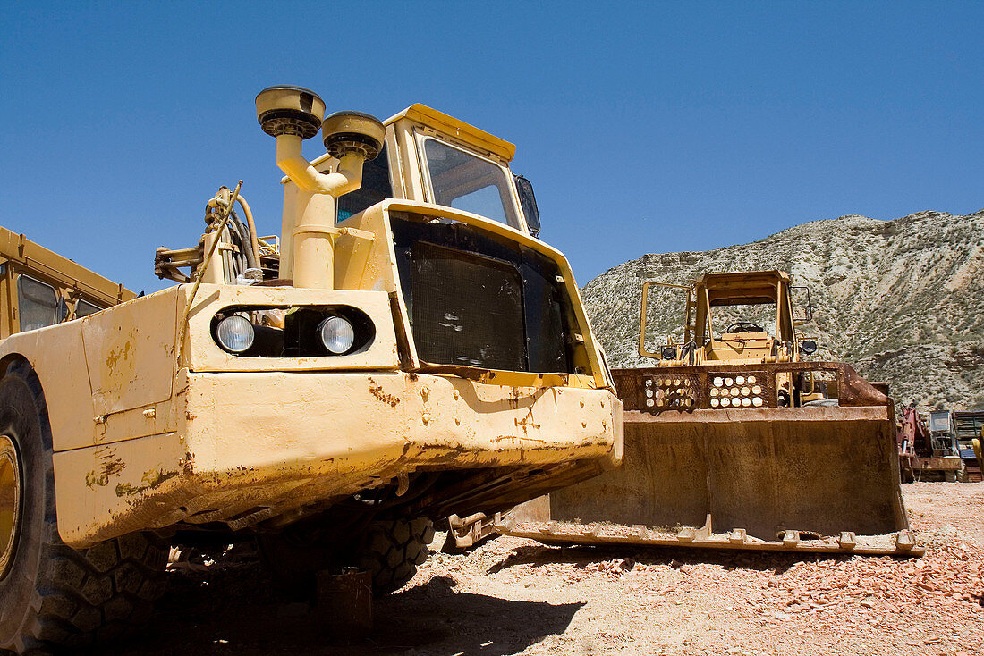
[[[86,491],[58,496],[67,544],[243,529],[418,471],[622,458],[622,403],[605,389],[401,372],[189,373],[175,389],[175,430],[55,454],[56,486]]]

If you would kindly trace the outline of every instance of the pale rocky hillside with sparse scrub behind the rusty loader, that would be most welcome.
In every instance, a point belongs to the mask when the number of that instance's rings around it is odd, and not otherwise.
[[[984,209],[921,211],[891,221],[850,215],[761,241],[646,255],[590,280],[582,294],[612,367],[648,366],[637,351],[643,280],[688,284],[704,271],[778,268],[807,285],[825,357],[886,381],[896,405],[984,410]],[[650,347],[682,336],[684,296],[649,298]]]

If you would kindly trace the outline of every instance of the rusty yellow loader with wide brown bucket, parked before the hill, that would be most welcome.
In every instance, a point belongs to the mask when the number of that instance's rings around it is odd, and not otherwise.
[[[888,389],[821,361],[796,328],[790,275],[706,273],[683,341],[613,370],[625,404],[615,470],[517,508],[500,533],[548,544],[917,555]]]

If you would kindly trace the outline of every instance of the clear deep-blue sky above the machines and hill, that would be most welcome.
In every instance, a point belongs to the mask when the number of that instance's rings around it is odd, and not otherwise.
[[[517,144],[581,284],[818,218],[984,208],[978,3],[2,10],[0,224],[138,291],[164,286],[154,248],[194,245],[220,185],[242,178],[278,231],[253,99],[282,83],[330,112],[423,102]]]

